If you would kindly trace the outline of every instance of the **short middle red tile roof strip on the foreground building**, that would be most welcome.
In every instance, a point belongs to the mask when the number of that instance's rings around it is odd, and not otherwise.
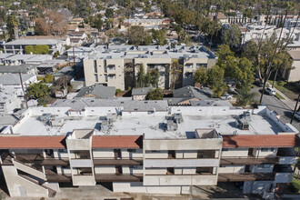
[[[92,138],[93,148],[141,148],[142,135],[97,135]]]

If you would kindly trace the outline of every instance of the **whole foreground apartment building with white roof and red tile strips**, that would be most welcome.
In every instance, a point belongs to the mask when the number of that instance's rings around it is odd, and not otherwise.
[[[114,192],[190,194],[194,185],[219,182],[271,196],[292,181],[300,145],[298,131],[279,117],[263,105],[62,99],[5,127],[0,164],[11,196],[104,183]]]

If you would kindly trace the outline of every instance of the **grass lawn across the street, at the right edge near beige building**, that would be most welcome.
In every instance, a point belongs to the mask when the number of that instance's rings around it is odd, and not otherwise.
[[[268,81],[270,85],[273,84],[273,81]],[[286,83],[282,81],[275,82],[275,88],[285,94],[290,99],[297,99],[300,93],[300,85],[296,85],[295,83]],[[279,98],[279,96],[277,96]]]

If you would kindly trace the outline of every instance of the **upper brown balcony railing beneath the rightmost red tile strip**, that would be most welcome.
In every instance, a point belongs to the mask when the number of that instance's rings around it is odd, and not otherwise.
[[[220,165],[261,165],[261,164],[276,164],[278,157],[221,157]]]

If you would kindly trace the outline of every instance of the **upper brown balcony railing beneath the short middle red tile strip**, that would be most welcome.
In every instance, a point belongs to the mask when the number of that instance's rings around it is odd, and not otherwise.
[[[143,160],[134,159],[94,159],[94,165],[143,165]]]

